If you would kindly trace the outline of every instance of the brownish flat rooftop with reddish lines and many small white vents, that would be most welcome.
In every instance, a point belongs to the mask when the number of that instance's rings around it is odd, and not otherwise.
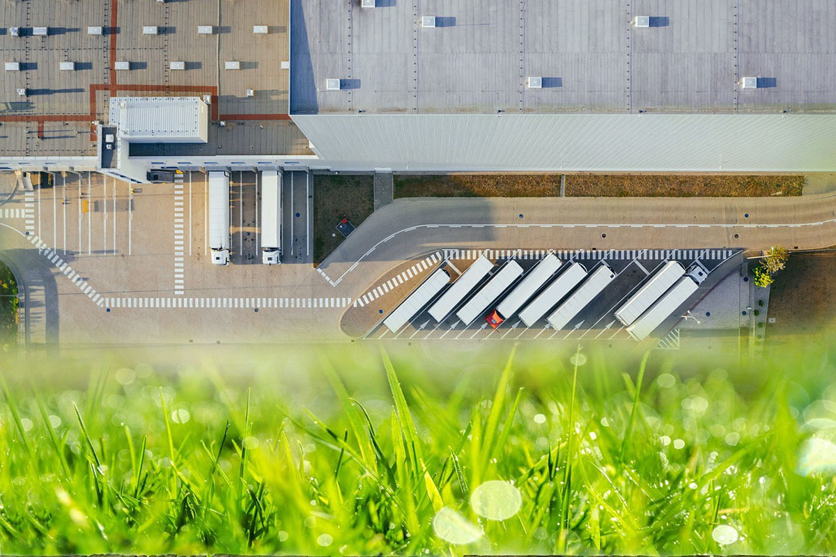
[[[204,151],[311,154],[288,118],[287,2],[28,0],[0,3],[0,22],[3,62],[19,63],[0,80],[0,156],[94,156],[91,122],[107,123],[110,96],[189,95],[211,98]],[[74,68],[61,69],[64,62]],[[129,68],[117,69],[121,62]]]

